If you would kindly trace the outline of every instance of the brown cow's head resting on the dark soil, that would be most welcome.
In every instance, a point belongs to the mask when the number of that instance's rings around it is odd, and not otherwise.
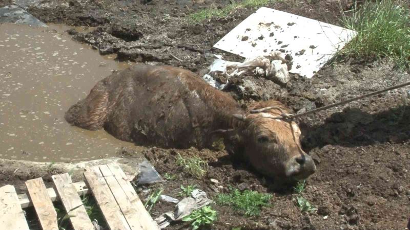
[[[298,125],[276,119],[282,109],[271,110],[234,114],[233,117],[241,121],[235,135],[237,147],[242,151],[236,150],[264,175],[286,180],[308,178],[316,171],[316,166],[312,157],[300,147]]]

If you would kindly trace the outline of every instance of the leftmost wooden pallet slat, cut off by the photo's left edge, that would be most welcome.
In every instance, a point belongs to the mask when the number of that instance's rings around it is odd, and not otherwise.
[[[29,230],[14,186],[0,188],[0,226],[3,229]]]

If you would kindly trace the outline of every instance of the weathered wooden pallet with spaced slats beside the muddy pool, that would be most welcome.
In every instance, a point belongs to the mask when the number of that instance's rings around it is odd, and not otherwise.
[[[0,188],[2,229],[28,230],[22,208],[33,205],[43,229],[58,230],[53,201],[60,200],[74,230],[93,230],[80,195],[91,193],[112,230],[156,230],[155,221],[139,199],[121,168],[110,163],[84,172],[85,182],[73,183],[68,173],[53,175],[54,188],[46,188],[42,178],[26,181],[28,194],[17,195],[15,188]]]

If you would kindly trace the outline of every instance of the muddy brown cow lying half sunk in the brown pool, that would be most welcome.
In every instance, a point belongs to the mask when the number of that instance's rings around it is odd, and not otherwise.
[[[274,100],[244,110],[229,94],[182,68],[137,64],[97,82],[65,119],[89,130],[104,128],[119,140],[161,148],[210,148],[220,135],[230,154],[263,175],[308,178],[315,163],[300,146],[298,125],[278,118],[284,113],[288,109]]]

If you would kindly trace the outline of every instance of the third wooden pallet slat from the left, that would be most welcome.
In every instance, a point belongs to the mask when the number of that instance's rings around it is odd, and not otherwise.
[[[58,196],[70,217],[74,230],[94,230],[86,208],[83,205],[77,190],[68,173],[51,176]]]

